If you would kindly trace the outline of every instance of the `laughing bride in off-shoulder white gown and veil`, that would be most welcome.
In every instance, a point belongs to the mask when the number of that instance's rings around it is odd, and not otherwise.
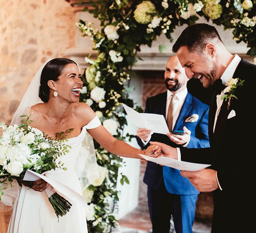
[[[79,154],[86,131],[102,147],[116,155],[140,158],[138,153],[154,157],[161,153],[156,145],[141,151],[115,139],[101,125],[99,118],[87,104],[78,103],[82,86],[81,74],[74,61],[55,58],[46,62],[32,80],[11,122],[11,124],[19,123],[19,116],[31,106],[30,112],[33,111],[31,119],[35,121],[31,126],[40,129],[45,135],[55,138],[56,132],[74,129],[72,135],[66,135],[69,137],[67,144],[72,148],[69,153],[60,157],[67,170],[51,170],[46,172],[46,176],[80,194],[82,190],[77,164],[82,163]],[[95,157],[90,160],[96,165]],[[89,167],[95,166],[89,165]],[[74,202],[70,211],[58,221],[48,197],[42,192],[47,186],[48,184],[42,179],[34,181],[31,189],[22,185],[19,199],[13,208],[8,233],[87,232],[85,210]]]

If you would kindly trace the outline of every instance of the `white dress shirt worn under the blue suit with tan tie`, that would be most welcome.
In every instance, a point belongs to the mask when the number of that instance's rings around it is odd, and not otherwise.
[[[184,102],[185,102],[185,99],[186,99],[187,94],[188,94],[187,88],[185,88],[183,91],[181,91],[181,92],[175,94],[176,99],[173,100],[173,101],[175,101],[174,106],[173,106],[174,115],[172,116],[172,117],[173,117],[173,124],[172,124],[173,127],[174,127],[174,125],[175,125],[175,123],[176,123],[176,120],[178,119],[178,117],[179,117],[179,115],[180,115],[180,111],[181,111],[182,106],[183,106],[183,104],[184,104]],[[172,95],[173,95],[173,93],[172,93],[171,91],[167,90],[166,109],[165,109],[165,113],[166,113],[166,114],[165,114],[165,119],[167,119],[168,108],[169,108],[169,104],[170,104],[170,100],[171,100],[171,96],[172,96]],[[141,139],[141,141],[142,141],[142,143],[143,143],[144,145],[146,145],[146,144],[149,142],[150,139],[151,139],[151,135],[149,136],[149,138],[148,138],[146,141],[144,141],[144,140],[142,140],[142,139]],[[189,143],[189,141],[188,141],[185,145],[183,145],[183,146],[184,146],[184,147],[187,147],[188,143]]]

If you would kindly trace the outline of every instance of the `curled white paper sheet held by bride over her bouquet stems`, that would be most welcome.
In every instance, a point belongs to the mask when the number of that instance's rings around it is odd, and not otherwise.
[[[83,206],[86,211],[89,211],[86,200],[79,193],[74,191],[72,188],[66,186],[65,184],[62,184],[56,180],[50,179],[49,177],[47,177],[43,174],[39,174],[39,173],[31,171],[31,170],[27,170],[24,175],[24,178],[23,178],[23,180],[28,180],[28,181],[35,181],[35,180],[39,180],[39,179],[45,180],[47,183],[49,183],[51,186],[53,186],[53,188],[56,191],[58,191],[60,194],[65,195],[70,200]]]

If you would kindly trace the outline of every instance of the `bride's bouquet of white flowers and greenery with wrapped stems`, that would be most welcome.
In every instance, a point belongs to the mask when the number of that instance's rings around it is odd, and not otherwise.
[[[56,168],[67,169],[64,163],[57,161],[58,157],[68,153],[71,148],[64,143],[66,139],[54,140],[47,137],[39,129],[30,126],[30,116],[21,117],[25,118],[21,120],[20,125],[8,126],[4,122],[0,123],[3,129],[3,135],[0,137],[0,201],[5,190],[12,186],[13,180],[17,180],[21,186],[28,169],[39,174]],[[56,137],[70,131],[72,129],[56,133]],[[45,193],[58,218],[71,208],[72,205],[57,194],[52,186],[49,185]]]

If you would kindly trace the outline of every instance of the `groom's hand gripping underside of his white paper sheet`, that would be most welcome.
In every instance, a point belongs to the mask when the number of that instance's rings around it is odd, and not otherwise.
[[[212,192],[219,188],[216,171],[202,169],[200,171],[181,171],[183,177],[187,177],[199,192]]]

